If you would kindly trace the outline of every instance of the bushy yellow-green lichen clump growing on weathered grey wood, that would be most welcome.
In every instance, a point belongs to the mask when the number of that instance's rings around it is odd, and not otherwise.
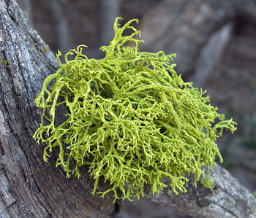
[[[60,68],[45,79],[35,100],[42,122],[34,139],[47,145],[45,161],[59,148],[56,166],[68,177],[79,177],[79,167],[89,165],[93,193],[101,176],[111,185],[102,195],[112,191],[115,199],[140,198],[146,184],[159,192],[167,186],[163,178],[173,192],[186,192],[186,175],[197,182],[202,166],[214,166],[216,156],[222,162],[215,141],[223,128],[233,132],[235,122],[176,74],[169,64],[174,55],[138,51],[142,41],[134,36],[140,31],[131,26],[138,20],[120,27],[119,19],[113,41],[101,48],[105,58],[87,58],[83,46],[64,55],[65,63],[57,54]],[[132,34],[122,36],[126,29]],[[69,112],[57,124],[61,104]]]

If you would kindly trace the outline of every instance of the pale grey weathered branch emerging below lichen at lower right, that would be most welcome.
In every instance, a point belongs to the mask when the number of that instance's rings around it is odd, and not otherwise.
[[[256,217],[256,199],[237,179],[220,166],[207,172],[214,179],[214,191],[198,184],[188,184],[187,193],[175,195],[165,189],[158,195],[148,193],[149,201],[165,208],[178,209],[193,217]]]

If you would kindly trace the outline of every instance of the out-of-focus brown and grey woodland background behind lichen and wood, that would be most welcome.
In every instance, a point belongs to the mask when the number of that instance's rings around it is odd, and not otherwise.
[[[218,140],[223,167],[256,190],[255,0],[17,0],[30,23],[56,52],[88,45],[89,58],[113,37],[113,20],[140,20],[140,50],[176,53],[176,71],[202,87],[238,130]],[[124,202],[120,218],[189,217],[145,200]]]

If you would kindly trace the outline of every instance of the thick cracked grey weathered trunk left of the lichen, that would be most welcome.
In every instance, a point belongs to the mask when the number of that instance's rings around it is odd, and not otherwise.
[[[0,1],[0,58],[0,217],[110,217],[113,199],[91,195],[86,170],[66,179],[31,139],[39,122],[34,98],[57,63],[13,0]]]

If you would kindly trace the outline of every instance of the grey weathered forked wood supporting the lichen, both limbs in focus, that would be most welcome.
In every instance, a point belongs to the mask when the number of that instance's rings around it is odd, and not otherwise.
[[[66,179],[53,157],[43,162],[42,147],[31,139],[40,120],[34,98],[57,67],[16,2],[0,0],[0,217],[113,217],[118,211],[110,195],[91,195],[86,168],[80,179]],[[210,175],[213,192],[187,184],[185,194],[166,189],[146,198],[197,217],[256,216],[255,198],[236,179],[219,166]]]

